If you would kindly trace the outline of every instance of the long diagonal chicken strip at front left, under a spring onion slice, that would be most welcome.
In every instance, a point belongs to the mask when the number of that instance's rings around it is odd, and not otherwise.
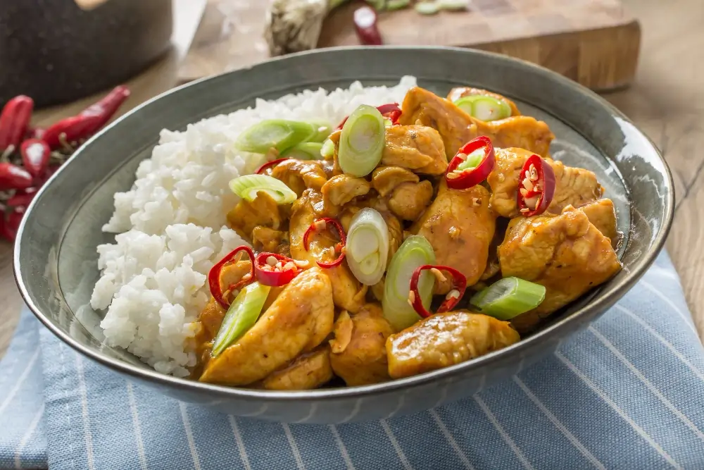
[[[332,331],[332,285],[322,269],[302,271],[237,342],[208,360],[201,382],[241,386],[260,381]]]

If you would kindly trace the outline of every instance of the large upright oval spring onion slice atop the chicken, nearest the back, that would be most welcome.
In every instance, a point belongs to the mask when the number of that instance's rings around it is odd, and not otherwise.
[[[386,125],[374,106],[360,105],[342,126],[337,159],[344,173],[363,177],[382,160]]]

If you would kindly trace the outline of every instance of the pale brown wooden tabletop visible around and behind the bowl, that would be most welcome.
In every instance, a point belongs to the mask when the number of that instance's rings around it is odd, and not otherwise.
[[[684,292],[704,338],[704,2],[701,0],[624,0],[641,20],[643,48],[632,87],[605,95],[650,136],[674,173],[677,214],[667,249],[682,278]],[[200,2],[176,0],[175,48],[128,85],[133,91],[123,111],[175,85],[177,63],[196,24]],[[614,44],[613,47],[618,47]],[[49,123],[76,113],[94,98],[38,113]],[[12,273],[12,247],[0,244],[0,356],[12,336],[21,305]]]

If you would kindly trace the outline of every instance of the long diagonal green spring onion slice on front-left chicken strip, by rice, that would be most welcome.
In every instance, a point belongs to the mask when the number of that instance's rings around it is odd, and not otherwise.
[[[220,330],[213,340],[213,357],[218,357],[232,343],[239,340],[244,333],[257,322],[264,302],[269,295],[271,287],[260,283],[251,283],[242,290],[227,309],[225,318],[222,319]]]

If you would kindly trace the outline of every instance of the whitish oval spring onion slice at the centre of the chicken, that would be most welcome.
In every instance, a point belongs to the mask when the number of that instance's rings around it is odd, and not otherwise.
[[[382,280],[389,257],[389,228],[382,214],[368,207],[355,214],[345,247],[347,264],[360,283]]]

